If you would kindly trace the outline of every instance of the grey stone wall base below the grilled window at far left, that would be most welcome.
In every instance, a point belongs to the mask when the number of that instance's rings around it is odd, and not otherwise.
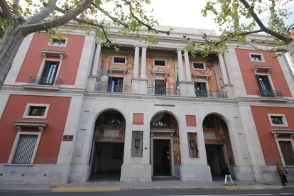
[[[0,183],[68,183],[70,165],[0,165]]]

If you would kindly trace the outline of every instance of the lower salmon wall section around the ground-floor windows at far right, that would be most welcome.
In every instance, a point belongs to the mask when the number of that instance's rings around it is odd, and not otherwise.
[[[281,156],[278,153],[276,139],[271,134],[271,129],[294,129],[294,108],[251,106],[251,111],[266,165],[276,165],[277,162],[281,162]],[[288,127],[271,126],[268,114],[284,114]]]

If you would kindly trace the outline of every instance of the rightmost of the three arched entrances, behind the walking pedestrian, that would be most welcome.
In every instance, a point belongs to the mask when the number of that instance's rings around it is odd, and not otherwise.
[[[226,122],[217,115],[209,114],[203,120],[205,150],[212,179],[218,180],[224,175],[224,165],[234,165],[229,130]]]

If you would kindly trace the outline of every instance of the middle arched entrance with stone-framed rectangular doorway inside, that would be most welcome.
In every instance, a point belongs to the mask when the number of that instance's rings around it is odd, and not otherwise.
[[[151,127],[152,176],[180,176],[180,138],[178,121],[162,111],[153,116]]]

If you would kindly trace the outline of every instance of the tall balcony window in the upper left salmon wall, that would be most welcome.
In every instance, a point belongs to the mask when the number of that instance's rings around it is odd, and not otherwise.
[[[45,61],[38,85],[54,85],[58,72],[59,61]]]

